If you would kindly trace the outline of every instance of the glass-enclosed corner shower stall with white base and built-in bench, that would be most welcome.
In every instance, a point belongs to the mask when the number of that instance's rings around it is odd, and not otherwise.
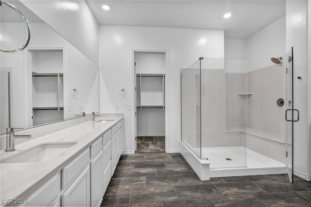
[[[180,78],[181,154],[202,180],[288,173],[281,64],[247,71],[246,59],[199,58]]]

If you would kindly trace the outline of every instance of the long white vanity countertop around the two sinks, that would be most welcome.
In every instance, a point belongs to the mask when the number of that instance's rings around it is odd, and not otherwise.
[[[27,198],[31,193],[47,182],[53,175],[60,172],[77,155],[85,151],[96,138],[121,121],[123,117],[99,117],[95,121],[84,123],[57,131],[55,133],[35,138],[15,146],[16,151],[5,153],[1,151],[1,159],[9,155],[46,142],[78,142],[64,153],[53,159],[37,163],[1,163],[0,164],[0,198]],[[96,122],[99,120],[114,120]],[[31,190],[30,190],[31,189]]]

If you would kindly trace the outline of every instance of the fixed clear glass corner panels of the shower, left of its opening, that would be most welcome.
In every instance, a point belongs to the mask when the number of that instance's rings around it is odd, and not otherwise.
[[[235,86],[230,86],[232,83]],[[230,94],[233,91],[236,93]],[[214,161],[213,152],[222,150],[226,154],[239,148],[238,164],[226,161],[228,165],[215,168],[246,167],[248,96],[246,59],[199,58],[187,69],[182,69],[182,142],[198,158],[208,159],[211,163]],[[230,112],[228,106],[231,105],[235,109]],[[234,144],[233,139],[239,139],[238,144]],[[210,167],[213,168],[213,164]]]

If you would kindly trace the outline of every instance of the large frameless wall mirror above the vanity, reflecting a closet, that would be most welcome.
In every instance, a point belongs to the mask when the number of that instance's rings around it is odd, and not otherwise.
[[[98,65],[20,1],[8,2],[27,17],[31,39],[21,52],[0,52],[0,132],[99,112]],[[26,25],[8,6],[0,9],[1,48],[18,48],[25,42]]]

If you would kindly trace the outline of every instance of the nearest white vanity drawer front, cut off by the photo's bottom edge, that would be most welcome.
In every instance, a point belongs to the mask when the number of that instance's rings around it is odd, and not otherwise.
[[[55,202],[55,198],[60,191],[60,173],[56,174],[51,180],[42,185],[28,198],[25,206],[50,206]]]

